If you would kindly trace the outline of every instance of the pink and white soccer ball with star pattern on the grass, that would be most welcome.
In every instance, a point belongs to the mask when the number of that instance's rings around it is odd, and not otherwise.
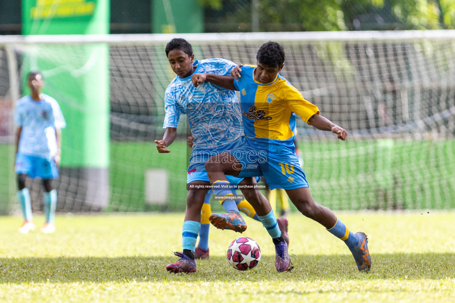
[[[248,237],[240,237],[229,244],[227,261],[238,270],[256,267],[261,260],[261,248],[256,241]]]

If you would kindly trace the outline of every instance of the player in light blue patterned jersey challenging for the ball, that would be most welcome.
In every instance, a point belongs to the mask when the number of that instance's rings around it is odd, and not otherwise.
[[[166,269],[173,273],[190,273],[196,271],[194,251],[201,228],[201,209],[210,189],[204,163],[212,154],[243,144],[242,114],[235,92],[211,83],[196,88],[191,80],[191,75],[199,72],[230,75],[230,71],[236,66],[233,62],[219,58],[194,61],[191,45],[179,38],[172,39],[166,45],[166,55],[177,76],[166,89],[166,116],[163,125],[166,131],[161,140],[155,140],[157,150],[160,153],[171,152],[167,147],[177,136],[177,124],[181,114],[187,114],[194,137],[187,174],[187,209],[182,227],[183,253],[175,253],[180,259],[176,263],[168,264]],[[228,179],[229,184],[233,185],[256,184],[253,177]],[[245,193],[249,202],[254,201],[261,206],[268,204],[258,190],[248,190]],[[233,188],[229,185],[220,194],[232,195]],[[218,226],[243,232],[246,224],[235,201],[223,199],[222,206],[227,214],[222,218],[217,217]]]

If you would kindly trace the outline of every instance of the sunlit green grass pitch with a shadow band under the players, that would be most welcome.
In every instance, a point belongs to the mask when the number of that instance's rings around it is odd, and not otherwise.
[[[17,233],[18,217],[0,218],[0,302],[453,302],[453,212],[337,212],[369,236],[373,266],[359,273],[348,249],[323,227],[289,217],[295,268],[277,273],[273,244],[247,218],[244,235],[262,260],[240,272],[226,260],[240,236],[210,229],[209,260],[197,273],[169,274],[181,249],[183,214],[57,216],[57,233]],[[43,221],[35,216],[37,229]]]

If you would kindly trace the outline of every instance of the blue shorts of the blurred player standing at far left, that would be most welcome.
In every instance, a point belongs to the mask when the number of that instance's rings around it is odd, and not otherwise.
[[[53,158],[42,158],[26,154],[16,154],[16,174],[27,174],[30,178],[56,179],[58,168]]]

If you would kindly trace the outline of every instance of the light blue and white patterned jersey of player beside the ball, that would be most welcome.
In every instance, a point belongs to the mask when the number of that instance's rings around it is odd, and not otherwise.
[[[197,60],[194,73],[231,75],[235,63],[221,59]],[[177,127],[187,114],[194,137],[193,148],[223,151],[223,145],[243,136],[242,112],[234,91],[205,82],[194,87],[191,76],[176,77],[167,86],[163,128]]]

